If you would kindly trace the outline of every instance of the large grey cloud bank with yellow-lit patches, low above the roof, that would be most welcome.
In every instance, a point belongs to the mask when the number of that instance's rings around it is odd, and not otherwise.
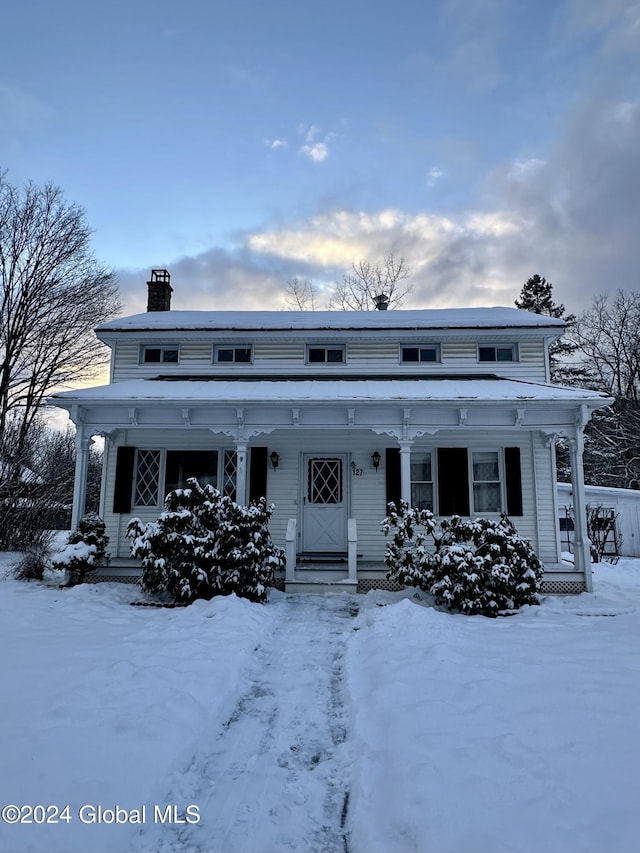
[[[405,307],[512,305],[539,273],[557,302],[579,312],[595,294],[638,290],[638,151],[640,103],[591,98],[567,117],[544,159],[514,157],[496,168],[473,209],[335,207],[267,222],[238,234],[234,248],[168,260],[174,305],[279,309],[290,278],[327,287],[352,263],[393,252],[412,270]],[[128,311],[144,310],[147,277],[121,274]]]

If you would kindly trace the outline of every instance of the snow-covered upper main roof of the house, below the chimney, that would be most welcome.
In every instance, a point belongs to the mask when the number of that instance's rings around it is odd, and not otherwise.
[[[518,308],[442,308],[415,311],[149,311],[109,320],[110,331],[294,331],[327,329],[503,329],[553,327],[564,320]]]

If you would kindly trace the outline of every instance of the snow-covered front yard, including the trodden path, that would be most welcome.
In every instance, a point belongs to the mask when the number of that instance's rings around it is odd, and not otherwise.
[[[640,560],[595,589],[488,620],[2,580],[0,805],[69,810],[0,851],[638,851]]]

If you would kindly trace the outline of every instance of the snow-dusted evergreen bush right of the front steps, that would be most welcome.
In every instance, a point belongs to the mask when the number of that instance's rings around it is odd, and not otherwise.
[[[506,515],[499,520],[454,515],[436,532],[431,513],[420,513],[405,503],[399,511],[389,505],[382,522],[385,534],[394,531],[385,555],[389,578],[419,586],[436,604],[461,613],[498,616],[538,603],[542,564]],[[432,551],[425,545],[428,534]]]

